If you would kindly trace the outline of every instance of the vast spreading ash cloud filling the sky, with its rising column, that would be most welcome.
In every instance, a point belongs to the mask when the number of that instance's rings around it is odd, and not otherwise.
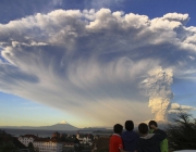
[[[172,79],[195,80],[196,27],[186,27],[188,20],[101,9],[56,10],[0,24],[0,90],[86,124],[146,121],[151,111],[166,119]]]

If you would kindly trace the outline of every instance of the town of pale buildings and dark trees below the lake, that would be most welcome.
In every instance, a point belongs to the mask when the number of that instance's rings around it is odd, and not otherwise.
[[[50,137],[38,135],[12,136],[0,130],[1,149],[12,149],[14,152],[108,152],[110,134],[96,130],[93,134],[77,131],[75,135],[54,131]],[[95,135],[97,134],[97,135]],[[3,147],[3,148],[2,148]]]

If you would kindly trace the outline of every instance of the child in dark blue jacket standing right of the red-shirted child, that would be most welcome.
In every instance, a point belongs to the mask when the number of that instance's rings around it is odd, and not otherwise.
[[[126,131],[121,135],[124,150],[134,152],[136,150],[136,141],[138,140],[139,136],[135,131],[133,131],[134,123],[132,121],[126,121],[124,125]]]

